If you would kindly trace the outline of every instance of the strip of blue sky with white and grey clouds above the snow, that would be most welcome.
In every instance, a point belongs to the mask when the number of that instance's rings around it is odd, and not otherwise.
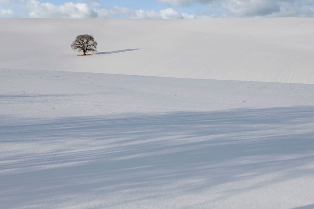
[[[0,17],[314,17],[314,0],[0,0]]]

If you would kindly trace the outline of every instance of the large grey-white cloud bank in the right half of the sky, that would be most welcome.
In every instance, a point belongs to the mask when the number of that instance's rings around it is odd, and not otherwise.
[[[158,0],[173,6],[207,4],[208,16],[314,17],[314,0]],[[204,15],[204,14],[202,14]]]

